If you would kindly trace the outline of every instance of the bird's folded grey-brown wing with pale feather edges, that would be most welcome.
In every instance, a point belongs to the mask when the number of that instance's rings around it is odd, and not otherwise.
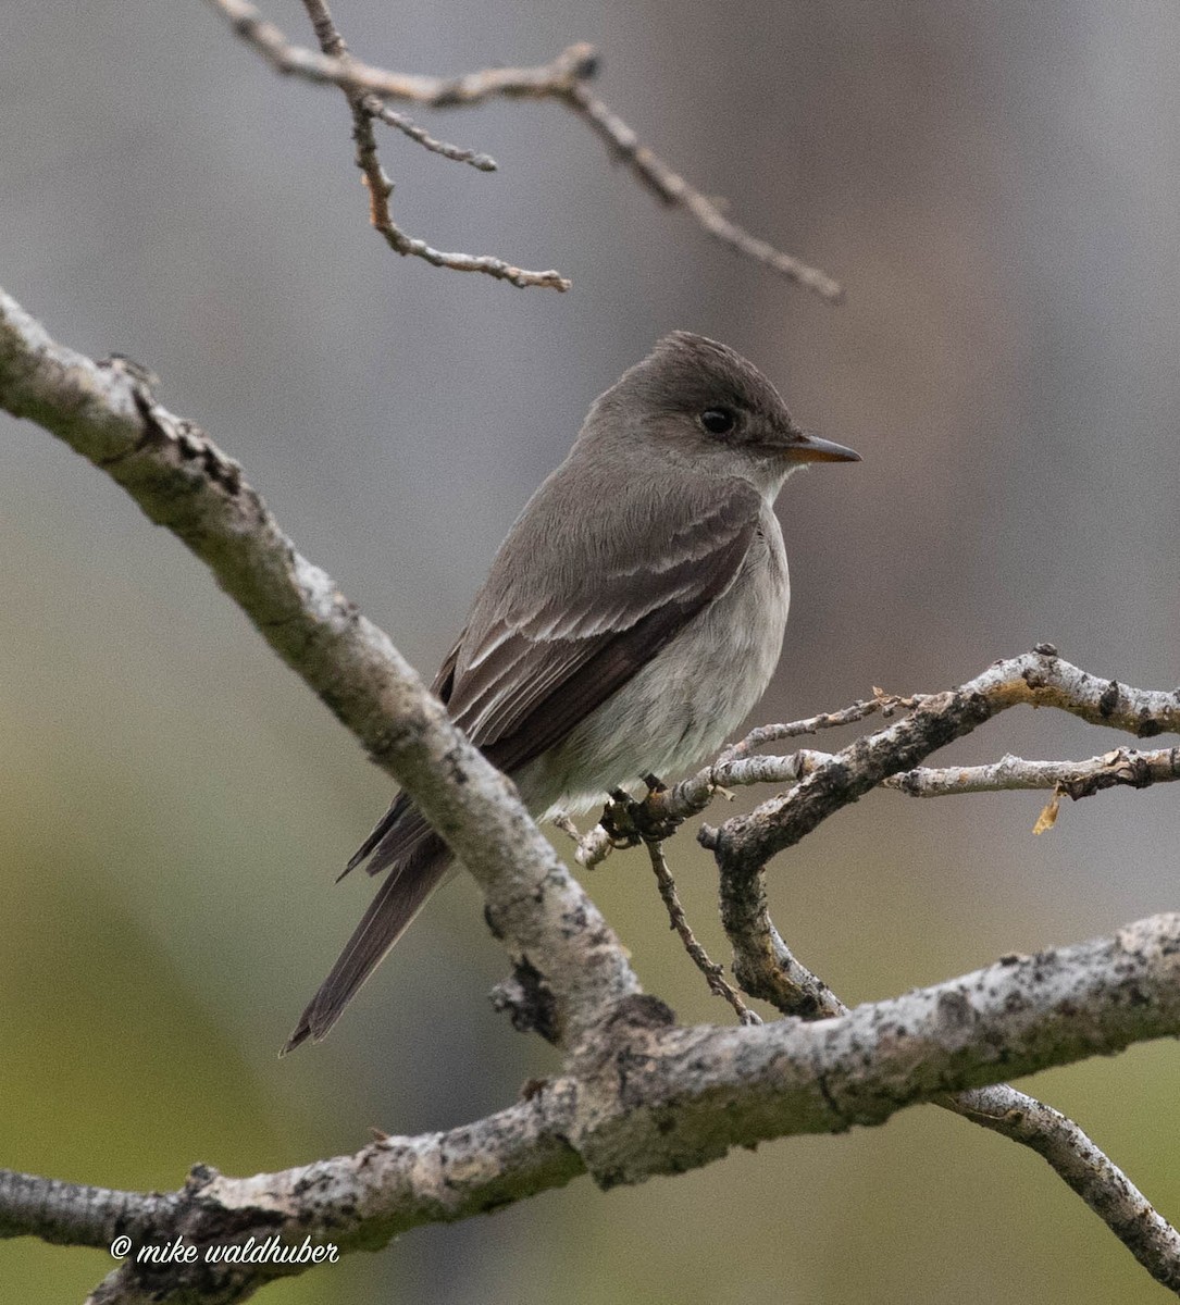
[[[497,555],[433,692],[501,770],[564,739],[738,576],[757,529],[756,489],[744,480],[681,482],[674,495],[659,482],[646,488],[636,510],[667,522],[649,553],[636,556],[625,538],[595,538],[564,551],[593,561],[561,572],[530,565],[514,531]],[[580,523],[586,529],[585,509],[572,508],[560,492],[539,495],[530,510],[540,530],[530,530],[529,545],[544,547]],[[345,873],[372,857],[368,872],[377,874],[428,834],[399,793]]]

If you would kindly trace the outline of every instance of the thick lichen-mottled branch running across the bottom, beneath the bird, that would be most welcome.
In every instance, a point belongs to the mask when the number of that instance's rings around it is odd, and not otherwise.
[[[163,1197],[0,1172],[0,1231],[84,1245],[123,1233],[136,1249],[178,1235],[198,1248],[274,1236],[372,1248],[420,1223],[559,1186],[583,1169],[604,1188],[641,1182],[707,1164],[735,1146],[881,1124],[916,1101],[987,1084],[1001,1067],[1031,1073],[1177,1034],[1180,915],[1005,957],[817,1022],[684,1028],[660,1002],[633,997],[565,1073],[463,1129],[385,1138],[354,1156],[252,1178],[202,1168]],[[986,1099],[978,1107],[988,1113]],[[1060,1117],[1052,1122],[1060,1133]],[[1102,1167],[1091,1159],[1090,1177]],[[1079,1172],[1077,1180],[1085,1186],[1089,1177]],[[1170,1265],[1154,1271],[1175,1289],[1180,1257],[1171,1240]],[[93,1298],[244,1300],[269,1278],[305,1267],[219,1272],[208,1263],[140,1266],[129,1258]]]

